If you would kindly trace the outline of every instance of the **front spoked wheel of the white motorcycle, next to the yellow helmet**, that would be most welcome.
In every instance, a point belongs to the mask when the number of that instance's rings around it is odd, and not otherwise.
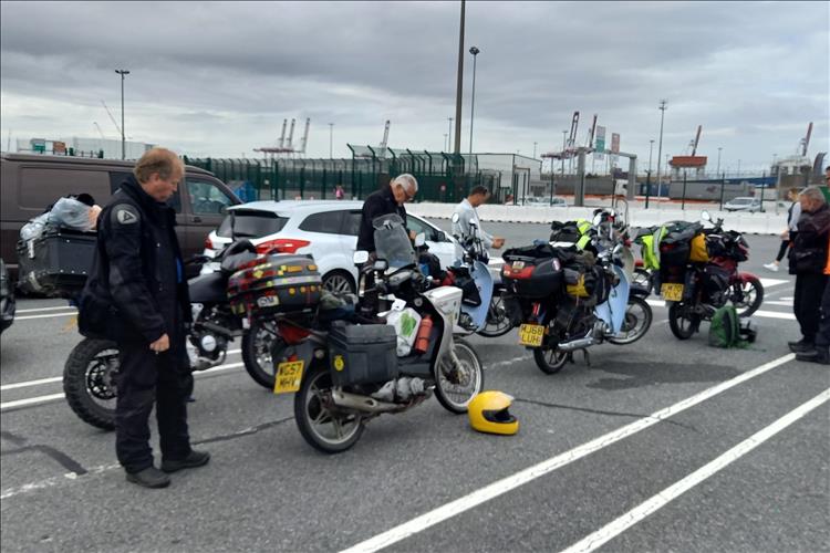
[[[453,352],[435,369],[435,397],[450,413],[467,413],[467,405],[484,388],[484,368],[475,349],[461,338],[454,338]]]

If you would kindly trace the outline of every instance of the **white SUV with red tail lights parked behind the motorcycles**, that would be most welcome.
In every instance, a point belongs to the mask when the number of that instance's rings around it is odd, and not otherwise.
[[[249,238],[258,250],[310,253],[329,290],[355,290],[357,271],[352,255],[357,247],[362,201],[289,200],[252,201],[228,208],[218,229],[205,240],[205,254],[214,257],[236,238]],[[458,242],[434,225],[407,213],[406,227],[426,234],[429,252],[442,267],[452,265],[463,251]]]

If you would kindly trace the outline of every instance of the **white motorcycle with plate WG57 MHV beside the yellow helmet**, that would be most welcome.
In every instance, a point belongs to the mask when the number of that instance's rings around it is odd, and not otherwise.
[[[396,216],[385,218],[393,221],[383,223],[388,236],[402,236],[386,242],[376,231],[373,263],[366,263],[365,251],[354,254],[355,264],[363,265],[361,312],[377,313],[375,323],[380,324],[344,325],[335,321],[326,331],[303,326],[289,316],[278,319],[278,324],[298,332],[287,341],[288,347],[273,352],[274,393],[294,393],[300,434],[325,453],[350,449],[367,421],[382,414],[406,411],[433,392],[445,409],[464,414],[484,386],[478,355],[471,345],[454,336],[460,331],[461,290],[430,286],[429,276],[417,269],[403,222],[400,218],[394,222]],[[416,244],[423,241],[419,234]],[[411,251],[403,251],[406,248]],[[401,262],[407,259],[411,262]],[[377,311],[390,305],[386,312]],[[371,340],[349,342],[350,333],[387,335],[390,330],[397,341],[394,328],[384,321],[395,311],[401,316],[414,312],[421,321],[417,340],[408,352],[393,349],[390,357],[388,348],[380,351]]]

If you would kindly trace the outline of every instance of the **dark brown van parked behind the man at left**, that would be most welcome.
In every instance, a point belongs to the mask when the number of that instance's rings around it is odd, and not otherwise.
[[[68,194],[90,194],[106,205],[134,161],[82,157],[2,154],[0,156],[0,257],[17,280],[15,247],[20,229]],[[225,208],[241,204],[211,173],[186,166],[185,179],[169,200],[176,209],[176,227],[183,255],[201,253],[205,238],[219,227]]]

